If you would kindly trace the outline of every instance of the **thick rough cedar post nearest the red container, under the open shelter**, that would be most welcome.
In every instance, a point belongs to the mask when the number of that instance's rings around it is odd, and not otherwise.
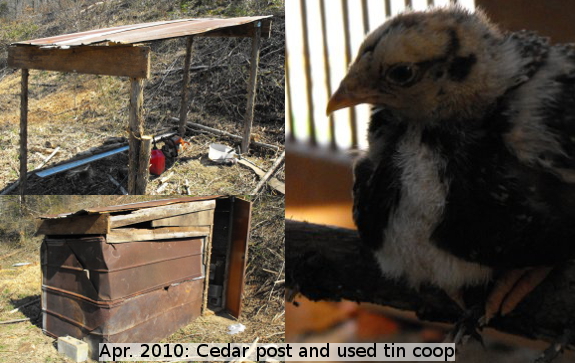
[[[144,134],[144,79],[130,78],[130,87],[130,125],[128,127],[130,160],[128,162],[128,193],[144,194],[146,192],[145,185],[147,180],[143,183],[143,190],[142,183],[138,183],[138,172],[140,170],[140,145],[142,135]]]

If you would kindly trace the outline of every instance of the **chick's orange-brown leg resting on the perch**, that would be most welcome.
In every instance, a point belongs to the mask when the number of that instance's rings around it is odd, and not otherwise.
[[[483,324],[497,313],[509,314],[551,272],[552,267],[534,267],[507,271],[496,282],[485,304]]]

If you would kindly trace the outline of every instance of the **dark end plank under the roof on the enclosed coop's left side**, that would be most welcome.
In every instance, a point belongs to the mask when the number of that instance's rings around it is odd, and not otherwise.
[[[68,218],[43,219],[37,234],[107,234],[110,232],[109,214],[89,214]]]

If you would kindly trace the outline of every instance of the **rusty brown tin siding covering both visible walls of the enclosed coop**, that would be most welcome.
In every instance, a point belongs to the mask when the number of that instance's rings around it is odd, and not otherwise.
[[[205,238],[110,244],[105,236],[42,244],[43,330],[89,343],[154,342],[201,314]]]

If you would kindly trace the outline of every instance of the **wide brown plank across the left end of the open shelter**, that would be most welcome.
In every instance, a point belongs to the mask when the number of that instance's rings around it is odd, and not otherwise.
[[[8,48],[8,66],[48,71],[149,78],[150,48],[134,46],[78,46],[61,49],[16,45]]]

